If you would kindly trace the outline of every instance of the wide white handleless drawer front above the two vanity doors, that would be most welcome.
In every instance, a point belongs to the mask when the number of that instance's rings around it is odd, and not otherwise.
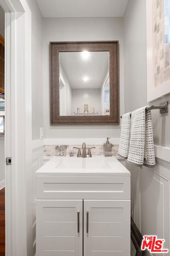
[[[130,176],[37,176],[37,199],[130,199]]]

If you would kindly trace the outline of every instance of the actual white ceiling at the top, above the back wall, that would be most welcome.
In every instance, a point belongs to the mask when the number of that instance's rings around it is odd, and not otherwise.
[[[43,17],[122,17],[129,0],[37,0]]]

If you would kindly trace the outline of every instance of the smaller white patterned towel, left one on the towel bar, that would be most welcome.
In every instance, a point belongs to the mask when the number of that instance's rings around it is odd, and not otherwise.
[[[130,142],[130,112],[122,116],[118,155],[128,158]]]

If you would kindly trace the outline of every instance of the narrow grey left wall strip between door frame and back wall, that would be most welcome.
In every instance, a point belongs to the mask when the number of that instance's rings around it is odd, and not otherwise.
[[[32,139],[40,139],[43,127],[42,15],[35,0],[27,0],[32,12]]]

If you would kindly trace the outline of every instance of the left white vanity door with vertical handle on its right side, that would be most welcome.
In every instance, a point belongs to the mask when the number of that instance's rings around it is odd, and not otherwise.
[[[83,200],[36,201],[36,256],[83,255]]]

